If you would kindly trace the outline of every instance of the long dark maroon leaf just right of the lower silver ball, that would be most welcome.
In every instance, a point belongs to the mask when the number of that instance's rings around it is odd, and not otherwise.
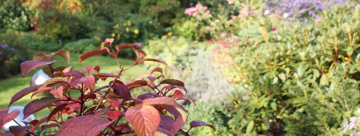
[[[48,107],[50,104],[56,102],[58,99],[55,97],[44,97],[40,99],[36,99],[31,101],[30,103],[26,104],[24,108],[24,118],[30,116],[32,113],[38,112],[46,107]]]

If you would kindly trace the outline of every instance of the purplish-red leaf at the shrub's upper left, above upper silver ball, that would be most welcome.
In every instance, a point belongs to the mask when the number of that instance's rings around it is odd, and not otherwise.
[[[43,65],[47,65],[47,64],[52,64],[56,62],[55,61],[51,61],[51,62],[47,62],[44,60],[29,60],[29,61],[24,61],[20,64],[20,69],[21,69],[21,74],[22,77],[24,78],[31,70],[36,69],[37,67],[43,66]]]

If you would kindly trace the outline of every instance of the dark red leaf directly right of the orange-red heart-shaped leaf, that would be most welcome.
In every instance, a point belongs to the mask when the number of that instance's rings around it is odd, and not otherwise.
[[[183,118],[177,118],[174,120],[172,117],[168,115],[161,115],[161,122],[159,127],[169,131],[174,134],[178,130],[180,130],[185,125]]]

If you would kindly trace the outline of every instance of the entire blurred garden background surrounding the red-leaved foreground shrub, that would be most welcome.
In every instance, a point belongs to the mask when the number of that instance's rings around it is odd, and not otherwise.
[[[77,62],[113,37],[142,43],[169,64],[167,78],[184,81],[199,102],[186,106],[189,119],[217,126],[194,135],[349,135],[360,129],[343,131],[360,108],[359,30],[356,0],[3,0],[0,106],[29,86],[34,72],[21,78],[19,64],[36,52],[67,49],[74,69],[93,62],[113,72],[109,56]],[[135,54],[120,56],[130,65]]]

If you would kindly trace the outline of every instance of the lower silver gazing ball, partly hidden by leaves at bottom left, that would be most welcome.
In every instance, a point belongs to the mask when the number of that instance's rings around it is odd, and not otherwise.
[[[34,114],[31,114],[30,116],[23,119],[24,118],[24,113],[23,113],[24,107],[23,106],[11,106],[11,107],[9,107],[9,112],[8,113],[10,113],[10,112],[12,112],[14,110],[20,111],[19,115],[15,118],[15,120],[21,126],[25,126],[25,124],[22,121],[30,122],[32,120],[35,120],[35,115]],[[4,125],[3,130],[9,132],[9,127],[13,126],[13,125],[18,125],[18,124],[15,123],[15,121],[11,120],[10,122],[8,122],[8,123],[6,123]]]

